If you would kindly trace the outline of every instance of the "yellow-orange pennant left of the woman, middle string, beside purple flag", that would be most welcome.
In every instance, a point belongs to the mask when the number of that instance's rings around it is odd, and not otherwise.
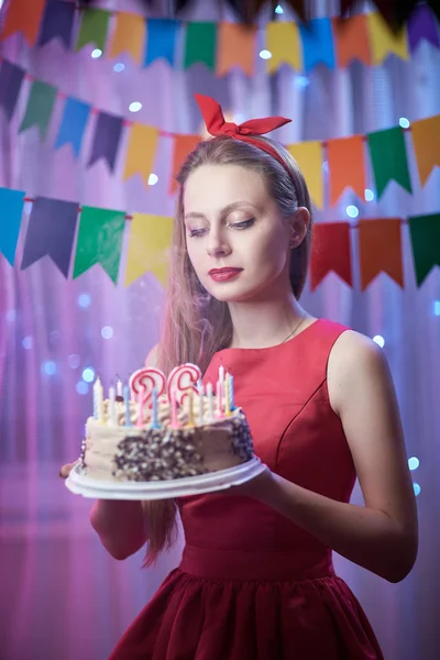
[[[156,155],[158,130],[145,124],[133,123],[130,127],[129,146],[127,148],[124,180],[140,174],[145,184],[153,172]]]

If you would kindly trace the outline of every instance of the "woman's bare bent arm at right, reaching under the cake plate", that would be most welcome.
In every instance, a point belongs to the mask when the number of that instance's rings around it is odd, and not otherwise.
[[[270,471],[244,484],[242,492],[346,559],[399,582],[417,557],[417,513],[396,395],[382,350],[362,334],[344,332],[330,354],[328,386],[365,506],[336,502]]]

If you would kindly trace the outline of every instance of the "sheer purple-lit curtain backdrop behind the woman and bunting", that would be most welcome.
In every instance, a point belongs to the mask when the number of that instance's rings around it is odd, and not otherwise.
[[[195,3],[186,18],[232,19],[211,4]],[[103,6],[138,9],[134,0]],[[315,3],[317,16],[331,11],[329,2]],[[262,16],[262,22],[267,19]],[[283,19],[292,15],[286,12]],[[172,70],[163,61],[142,69],[123,58],[125,69],[116,73],[116,61],[92,59],[91,48],[73,53],[52,42],[30,50],[20,36],[2,48],[37,78],[100,109],[129,119],[134,117],[129,103],[141,101],[135,120],[166,131],[200,130],[195,91],[215,96],[239,121],[271,113],[290,117],[293,122],[277,132],[284,143],[365,133],[394,127],[400,117],[411,121],[440,113],[440,53],[427,43],[409,62],[392,56],[381,67],[318,67],[307,78],[289,68],[270,78],[258,59],[252,79],[240,72],[216,78],[202,65]],[[0,185],[29,195],[173,216],[169,140],[162,141],[157,154],[155,186],[145,187],[139,177],[122,183],[122,163],[114,175],[102,162],[87,167],[89,134],[78,160],[69,146],[54,151],[59,102],[46,141],[34,129],[19,135],[24,101],[21,95],[10,124],[0,117]],[[380,201],[359,200],[348,191],[338,207],[317,212],[316,220],[346,221],[350,204],[360,208],[361,217],[438,212],[439,170],[421,189],[413,160],[409,165],[416,182],[413,195],[395,184]],[[370,187],[374,189],[372,180]],[[420,461],[413,475],[420,486],[421,540],[417,565],[402,584],[387,584],[341,558],[337,568],[362,602],[387,660],[435,660],[440,647],[435,614],[440,608],[440,316],[435,305],[440,300],[440,271],[416,287],[405,226],[405,289],[381,275],[362,293],[355,229],[352,234],[353,288],[330,275],[315,293],[306,290],[304,304],[316,316],[385,339],[408,455]],[[22,250],[20,244],[16,264]],[[78,455],[91,410],[91,391],[77,392],[82,371],[92,367],[109,383],[116,373],[124,377],[142,365],[158,338],[163,298],[162,286],[148,274],[128,288],[122,282],[114,287],[99,267],[66,280],[47,258],[20,271],[0,256],[1,660],[105,660],[178,562],[182,540],[147,571],[141,570],[142,552],[124,562],[111,559],[89,525],[91,501],[70,494],[57,477],[59,465]],[[105,327],[112,329],[108,339],[101,334]],[[361,502],[359,490],[353,502]]]

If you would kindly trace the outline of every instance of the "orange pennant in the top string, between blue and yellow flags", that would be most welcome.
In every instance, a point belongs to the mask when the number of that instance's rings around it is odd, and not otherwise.
[[[333,19],[332,28],[338,66],[345,68],[353,59],[370,66],[372,55],[365,14],[348,20]]]

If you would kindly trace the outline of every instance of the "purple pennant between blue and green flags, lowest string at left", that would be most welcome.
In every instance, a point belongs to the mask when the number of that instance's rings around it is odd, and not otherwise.
[[[21,270],[47,255],[67,277],[77,218],[77,201],[37,197],[29,220]]]

